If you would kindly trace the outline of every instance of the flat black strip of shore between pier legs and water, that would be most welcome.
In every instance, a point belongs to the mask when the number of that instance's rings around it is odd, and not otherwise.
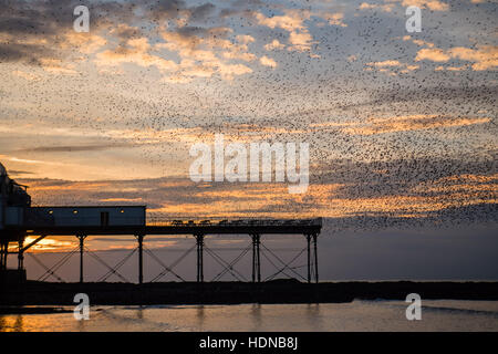
[[[74,305],[86,293],[92,305],[181,305],[240,303],[341,303],[353,300],[498,300],[498,282],[481,281],[349,281],[302,283],[297,280],[247,282],[54,283],[3,284],[2,306]],[[25,308],[24,308],[25,309]],[[40,310],[41,311],[41,310]],[[0,314],[2,314],[0,309]]]

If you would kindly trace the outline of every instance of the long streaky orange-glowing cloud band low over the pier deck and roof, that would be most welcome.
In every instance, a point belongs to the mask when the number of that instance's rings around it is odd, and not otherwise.
[[[490,162],[448,159],[396,159],[374,163],[333,160],[315,171],[309,192],[292,196],[282,184],[206,184],[186,178],[65,181],[23,178],[37,205],[136,205],[146,204],[151,216],[167,218],[239,217],[404,217],[430,216],[446,220],[466,207],[471,217],[495,218],[498,175]],[[452,166],[448,169],[447,166]],[[318,183],[318,178],[320,183]],[[186,199],[188,196],[188,200]],[[209,210],[206,209],[209,205]],[[473,206],[485,205],[488,210]],[[495,218],[496,219],[496,218]],[[461,219],[460,219],[461,220]],[[360,223],[361,225],[361,223]],[[361,228],[361,227],[360,227]]]

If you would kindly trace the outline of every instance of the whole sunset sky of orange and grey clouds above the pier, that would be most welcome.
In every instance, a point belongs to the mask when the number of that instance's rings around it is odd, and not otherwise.
[[[73,30],[77,4],[90,9],[89,33]],[[412,4],[422,8],[419,33],[405,29]],[[338,229],[496,225],[497,1],[0,9],[0,162],[30,186],[33,205],[322,216],[341,220]],[[309,143],[308,191],[190,181],[190,146],[215,134]]]

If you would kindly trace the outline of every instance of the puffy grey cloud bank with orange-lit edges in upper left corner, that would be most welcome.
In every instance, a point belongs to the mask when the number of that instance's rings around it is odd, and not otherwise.
[[[227,33],[232,32],[231,29],[186,25],[188,22],[205,23],[216,15],[217,8],[209,2],[189,7],[183,0],[143,0],[136,6],[96,1],[91,6],[90,33],[76,33],[72,30],[73,18],[68,9],[73,9],[77,1],[63,2],[33,1],[2,6],[0,61],[23,62],[40,65],[52,74],[74,75],[77,73],[74,58],[80,53],[90,59],[91,54],[96,53],[93,62],[97,66],[131,63],[142,67],[157,67],[165,76],[185,76],[185,79],[190,80],[219,73],[222,79],[229,80],[251,72],[251,69],[229,61],[257,60],[247,50],[247,45],[255,42],[249,34],[239,34],[232,42],[226,38]],[[139,21],[156,22],[157,28],[133,24]],[[167,21],[176,23],[176,28],[169,25],[167,40],[173,43],[164,44],[170,44],[169,49],[184,56],[180,63],[156,53],[155,50],[160,46],[153,48],[148,42],[151,34],[164,29]],[[114,45],[116,40],[117,45]],[[189,40],[190,43],[187,43]],[[196,45],[206,48],[195,49]],[[189,53],[187,49],[190,49]],[[25,75],[23,77],[27,79]]]

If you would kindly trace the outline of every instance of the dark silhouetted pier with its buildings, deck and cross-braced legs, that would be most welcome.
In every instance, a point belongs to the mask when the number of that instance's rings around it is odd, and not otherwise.
[[[0,165],[1,166],[1,165]],[[1,222],[0,222],[0,272],[7,273],[7,257],[18,256],[18,271],[23,271],[24,253],[31,247],[49,236],[68,236],[79,239],[80,282],[84,282],[83,258],[84,241],[87,236],[134,236],[138,251],[138,283],[144,281],[143,252],[144,241],[149,235],[191,235],[197,249],[197,282],[204,282],[205,236],[207,235],[249,235],[252,239],[252,282],[261,282],[260,247],[263,235],[302,235],[307,239],[308,250],[308,282],[319,281],[317,239],[322,228],[321,218],[318,219],[241,219],[241,220],[156,220],[146,221],[145,206],[68,206],[68,207],[31,207],[31,198],[27,187],[15,184],[1,166]],[[34,238],[24,244],[25,238]],[[14,250],[9,243],[15,243]],[[135,251],[135,250],[134,250]],[[74,251],[75,252],[75,251]],[[93,257],[96,254],[91,253]],[[149,252],[154,257],[153,253]],[[34,256],[33,256],[34,257]],[[100,260],[100,259],[97,259]],[[159,259],[156,259],[162,263]],[[111,273],[118,275],[116,267],[108,267]],[[41,263],[40,261],[38,261]],[[220,261],[224,271],[230,271],[235,262]],[[283,263],[283,262],[282,262]],[[41,264],[43,266],[43,264]],[[121,264],[122,266],[122,264]],[[121,267],[120,266],[120,267]],[[162,263],[166,272],[170,268]],[[43,266],[45,267],[45,266]],[[58,278],[52,269],[46,273]],[[289,269],[283,263],[283,270]],[[177,275],[177,274],[176,274]],[[118,275],[122,280],[124,277]],[[180,278],[177,275],[177,278]],[[60,279],[60,278],[58,278]]]

